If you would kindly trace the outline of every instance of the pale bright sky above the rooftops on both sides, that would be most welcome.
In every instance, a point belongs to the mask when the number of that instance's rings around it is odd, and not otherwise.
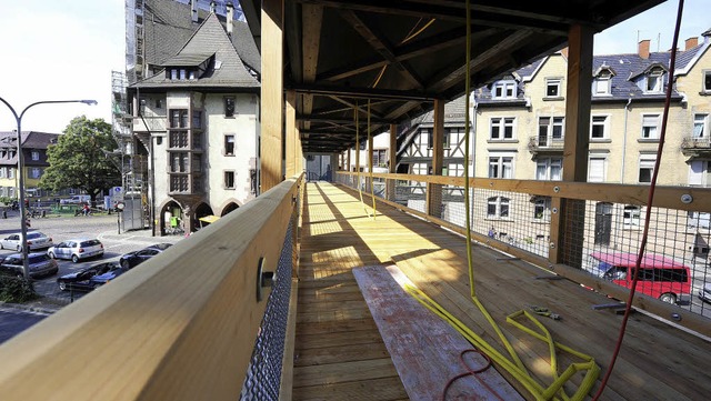
[[[708,6],[709,0],[685,1],[680,48],[711,28]],[[678,7],[678,0],[667,1],[595,34],[594,53],[633,53],[644,39],[652,51],[669,50]],[[59,133],[82,114],[110,123],[111,71],[124,70],[124,0],[3,1],[0,98],[18,114],[36,101],[98,101],[34,106],[22,118],[22,130]],[[13,129],[12,113],[0,104],[0,131]]]

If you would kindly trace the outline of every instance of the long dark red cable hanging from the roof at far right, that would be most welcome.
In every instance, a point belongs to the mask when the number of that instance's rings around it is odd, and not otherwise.
[[[671,90],[674,83],[674,64],[677,63],[677,41],[679,40],[679,27],[681,26],[681,13],[684,8],[684,0],[679,0],[679,10],[677,11],[677,26],[674,27],[674,39],[672,40],[671,46],[671,60],[669,62],[669,82],[667,84],[667,99],[664,100],[664,113],[662,117],[662,132],[659,136],[659,146],[657,147],[657,160],[654,161],[654,172],[652,173],[652,182],[650,182],[649,187],[649,197],[647,199],[647,213],[644,215],[644,232],[642,234],[642,240],[640,243],[640,251],[637,255],[637,262],[634,263],[634,278],[632,279],[632,288],[630,289],[630,295],[627,300],[627,305],[624,307],[624,317],[622,318],[622,325],[620,327],[620,334],[618,337],[617,344],[614,347],[614,352],[612,353],[612,360],[610,361],[610,367],[608,368],[604,378],[602,379],[602,383],[600,384],[600,389],[593,397],[593,400],[598,400],[600,395],[602,395],[602,391],[608,384],[608,380],[612,373],[612,369],[614,368],[614,362],[618,359],[620,353],[620,349],[622,348],[622,339],[624,339],[624,332],[627,330],[627,322],[630,318],[630,311],[632,310],[632,300],[634,299],[634,291],[637,289],[637,282],[639,280],[639,270],[640,264],[642,263],[642,258],[644,255],[644,249],[647,248],[647,239],[649,234],[649,223],[652,214],[652,201],[654,199],[654,189],[657,188],[657,176],[659,174],[659,164],[662,160],[662,150],[664,149],[664,137],[667,136],[667,118],[669,116],[669,104],[671,103]]]

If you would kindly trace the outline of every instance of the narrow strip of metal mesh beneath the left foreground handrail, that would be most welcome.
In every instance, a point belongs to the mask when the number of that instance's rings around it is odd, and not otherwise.
[[[279,400],[291,297],[292,230],[290,222],[279,257],[274,285],[267,301],[267,310],[242,384],[240,400]]]

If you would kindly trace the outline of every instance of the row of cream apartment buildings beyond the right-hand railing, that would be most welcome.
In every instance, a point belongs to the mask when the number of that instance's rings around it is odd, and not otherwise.
[[[711,30],[690,38],[677,53],[659,186],[708,187],[711,141]],[[671,51],[651,52],[650,41],[637,53],[595,56],[589,132],[588,182],[647,186],[660,144]],[[557,181],[563,177],[567,49],[511,71],[473,91],[471,166],[473,177]],[[443,176],[463,176],[464,98],[444,108]],[[400,133],[398,172],[431,173],[432,116],[409,134]],[[417,204],[423,187],[411,182],[408,204]],[[422,188],[419,188],[422,187]],[[463,197],[444,188],[442,217],[462,223]],[[449,198],[448,198],[449,196]],[[645,201],[642,199],[641,201]],[[641,202],[640,202],[641,203]],[[551,199],[472,193],[473,230],[491,232],[540,254],[548,252]],[[590,203],[585,207],[585,247],[635,250],[645,208],[640,204]],[[684,259],[708,257],[711,211],[652,221],[653,251],[683,247]],[[655,218],[652,217],[652,220]],[[669,232],[674,235],[667,235]],[[673,238],[667,240],[665,238]]]

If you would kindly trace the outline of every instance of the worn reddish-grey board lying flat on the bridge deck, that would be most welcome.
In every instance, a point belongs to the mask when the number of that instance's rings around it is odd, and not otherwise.
[[[409,280],[398,267],[356,268],[353,274],[410,399],[441,399],[448,382],[468,371],[460,354],[472,345],[402,289]],[[470,369],[487,363],[477,353],[465,359]],[[458,379],[447,398],[523,400],[493,368]]]

